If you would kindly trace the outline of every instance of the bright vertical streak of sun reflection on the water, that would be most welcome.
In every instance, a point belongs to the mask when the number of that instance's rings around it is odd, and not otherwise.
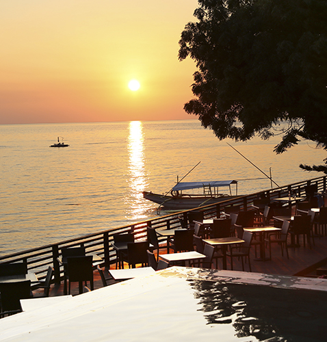
[[[146,174],[144,167],[144,133],[141,121],[129,123],[129,198],[126,202],[129,207],[129,220],[146,218],[149,209],[142,192],[146,189]]]

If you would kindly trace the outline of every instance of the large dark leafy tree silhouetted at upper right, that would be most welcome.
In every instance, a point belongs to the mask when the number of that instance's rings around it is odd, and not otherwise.
[[[185,111],[220,140],[281,133],[276,153],[300,139],[327,149],[327,0],[198,3],[179,41],[198,68]]]

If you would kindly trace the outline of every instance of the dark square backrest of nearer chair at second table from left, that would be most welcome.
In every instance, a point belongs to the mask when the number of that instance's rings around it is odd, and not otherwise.
[[[67,271],[69,281],[93,281],[93,257],[68,257]]]

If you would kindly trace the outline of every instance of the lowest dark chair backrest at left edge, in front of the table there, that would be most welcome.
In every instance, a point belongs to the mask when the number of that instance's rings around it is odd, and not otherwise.
[[[21,311],[21,299],[31,297],[31,280],[0,283],[2,311]]]

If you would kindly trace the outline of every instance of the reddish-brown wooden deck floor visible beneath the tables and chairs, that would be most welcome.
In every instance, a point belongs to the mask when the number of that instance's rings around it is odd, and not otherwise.
[[[290,241],[289,241],[290,242]],[[250,262],[252,272],[265,273],[265,274],[278,274],[284,276],[315,276],[315,269],[326,264],[327,260],[327,237],[315,237],[315,246],[306,247],[303,246],[302,240],[300,240],[301,246],[299,248],[289,248],[289,259],[287,259],[286,253],[282,257],[280,246],[278,244],[272,245],[272,260],[270,261],[255,261],[254,246],[250,252]],[[164,250],[163,253],[166,251]],[[257,248],[259,255],[259,248]],[[266,248],[266,255],[269,256],[269,249]],[[241,261],[235,258],[233,260],[233,268],[235,271],[241,271]],[[114,266],[113,266],[114,267]],[[125,265],[125,267],[128,267]],[[218,259],[218,268],[222,268],[222,261]],[[227,269],[231,269],[231,263],[229,258],[227,259]],[[245,264],[245,271],[249,272],[248,263]],[[105,274],[107,274],[105,270]],[[112,280],[110,284],[114,284]],[[94,289],[103,287],[101,278],[98,271],[94,271]],[[78,284],[72,283],[72,295],[78,294]],[[60,285],[52,285],[50,295],[64,295],[63,282]]]

